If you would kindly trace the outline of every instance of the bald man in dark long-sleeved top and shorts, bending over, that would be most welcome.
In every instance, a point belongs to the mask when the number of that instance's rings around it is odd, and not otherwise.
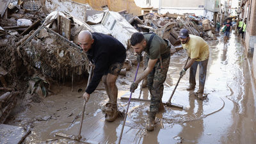
[[[83,51],[87,53],[89,60],[95,65],[92,81],[88,84],[83,97],[89,100],[90,94],[94,92],[102,79],[109,102],[106,104],[106,120],[113,122],[117,116],[117,87],[116,79],[122,69],[126,58],[125,47],[116,38],[102,33],[90,33],[81,31],[78,42]]]

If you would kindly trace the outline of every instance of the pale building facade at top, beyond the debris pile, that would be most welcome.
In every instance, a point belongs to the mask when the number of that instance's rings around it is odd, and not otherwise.
[[[141,8],[152,8],[158,13],[195,14],[215,20],[220,12],[221,0],[134,0]],[[142,12],[143,13],[143,12]]]

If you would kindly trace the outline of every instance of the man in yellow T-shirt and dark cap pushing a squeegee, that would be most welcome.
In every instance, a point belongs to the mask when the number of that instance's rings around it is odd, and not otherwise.
[[[199,89],[198,98],[203,98],[204,84],[207,72],[207,64],[209,60],[209,45],[200,36],[189,35],[188,29],[181,29],[179,33],[180,42],[182,47],[188,53],[190,60],[188,64],[181,70],[180,76],[186,74],[186,70],[189,70],[189,87],[187,90],[194,90],[196,86],[196,69],[199,65]]]

